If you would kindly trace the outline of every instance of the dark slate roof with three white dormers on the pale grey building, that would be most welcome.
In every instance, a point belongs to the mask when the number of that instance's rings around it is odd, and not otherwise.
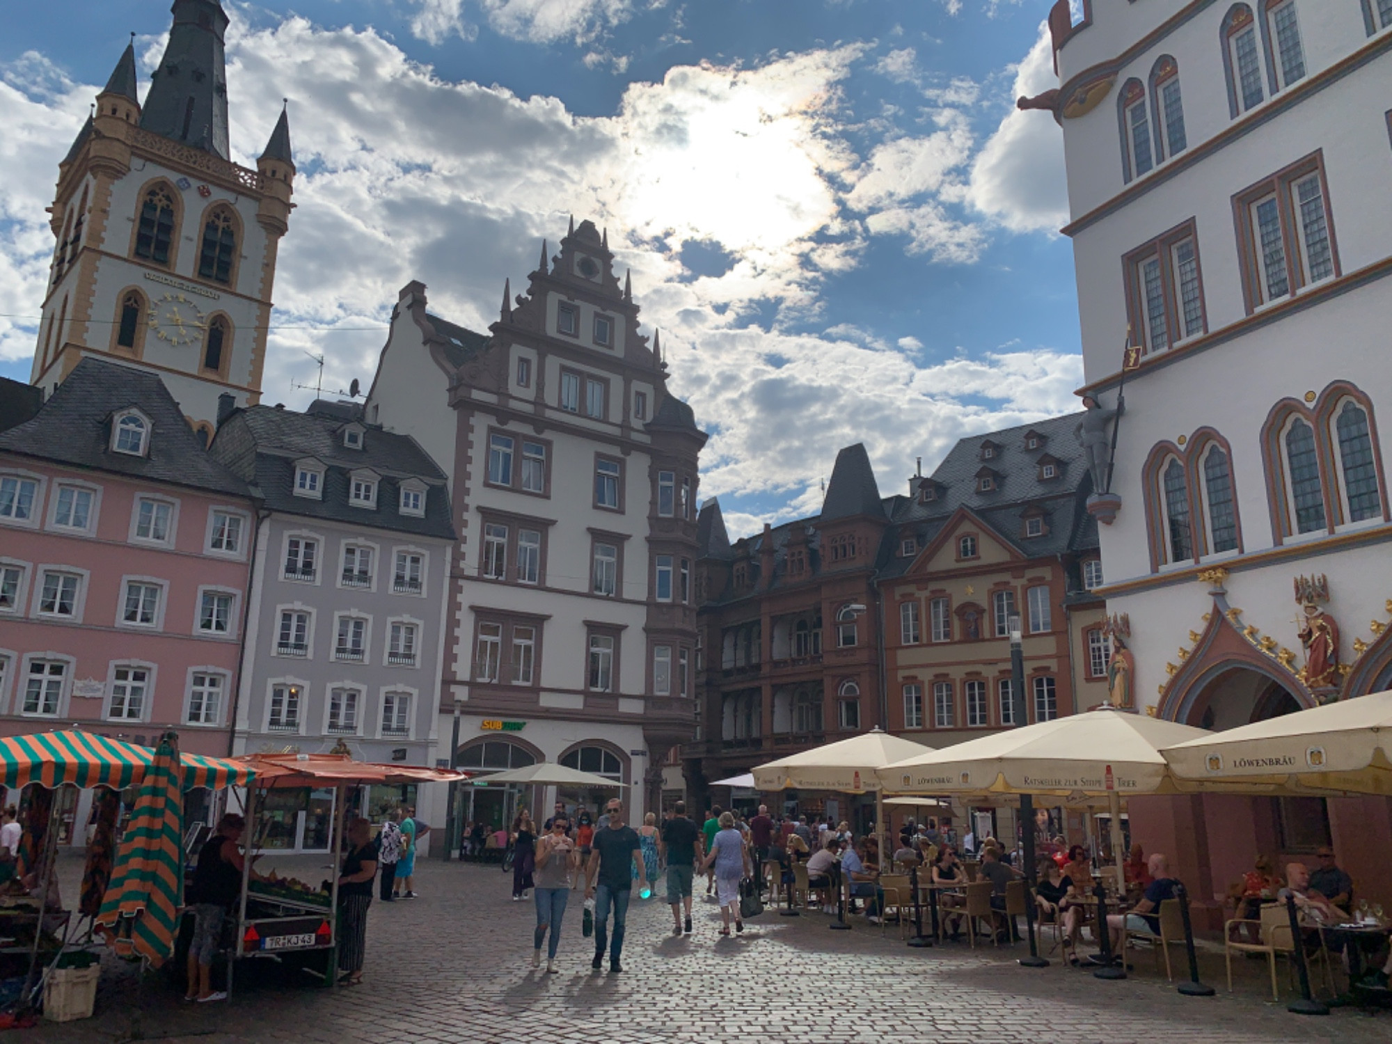
[[[452,540],[450,493],[440,466],[415,438],[372,425],[365,426],[363,448],[348,448],[342,427],[356,418],[335,409],[344,405],[356,406],[316,400],[313,412],[305,413],[274,406],[239,409],[217,429],[210,452],[252,483],[271,511]],[[322,500],[294,494],[295,461],[306,457],[326,465]],[[348,504],[349,476],[359,469],[380,476],[374,508]],[[426,483],[423,518],[398,511],[401,483],[412,477]]]

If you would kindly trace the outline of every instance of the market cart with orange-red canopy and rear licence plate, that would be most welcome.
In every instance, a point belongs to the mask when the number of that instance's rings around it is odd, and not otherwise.
[[[245,958],[278,962],[291,955],[308,958],[296,960],[301,970],[331,987],[338,980],[334,974],[338,965],[340,934],[335,910],[347,789],[365,784],[454,782],[466,778],[466,774],[419,766],[355,761],[342,754],[249,754],[237,760],[253,770],[255,781],[246,788],[246,860],[237,906],[232,960],[227,973],[228,994],[232,990],[232,966]],[[258,809],[264,806],[267,791],[290,786],[334,791],[330,824],[333,869],[330,878],[317,888],[291,878],[258,881],[252,877],[252,863],[263,855],[258,849],[269,825],[264,818],[258,823]]]

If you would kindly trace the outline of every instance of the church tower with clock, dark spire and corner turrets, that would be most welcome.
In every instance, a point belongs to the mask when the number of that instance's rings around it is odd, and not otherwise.
[[[157,373],[212,436],[217,402],[260,398],[295,164],[285,111],[256,170],[231,160],[227,15],[174,0],[145,103],[127,46],[58,164],[57,238],[31,383],[49,394],[84,355]]]

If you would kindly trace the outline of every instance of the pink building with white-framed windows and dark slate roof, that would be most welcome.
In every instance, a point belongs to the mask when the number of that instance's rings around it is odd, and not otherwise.
[[[0,432],[0,735],[227,754],[255,518],[153,374],[84,361]]]

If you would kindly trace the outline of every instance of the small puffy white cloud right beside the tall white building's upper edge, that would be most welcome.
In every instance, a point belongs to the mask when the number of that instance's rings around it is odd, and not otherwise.
[[[1057,231],[1068,221],[1063,132],[1048,113],[1022,111],[1015,97],[1058,86],[1048,25],[1016,67],[1011,111],[972,167],[967,199],[1016,232]]]

